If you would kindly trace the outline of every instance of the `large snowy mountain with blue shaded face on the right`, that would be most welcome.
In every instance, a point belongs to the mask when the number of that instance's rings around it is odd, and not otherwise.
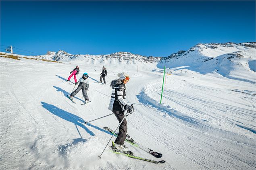
[[[216,72],[227,78],[256,82],[256,43],[199,43],[187,51],[163,58],[157,64],[158,68],[164,66],[203,74]]]

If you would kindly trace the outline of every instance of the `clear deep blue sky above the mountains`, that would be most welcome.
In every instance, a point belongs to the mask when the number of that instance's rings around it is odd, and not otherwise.
[[[1,0],[0,4],[1,51],[12,45],[20,54],[62,49],[72,54],[127,51],[166,57],[197,43],[256,41],[255,1]]]

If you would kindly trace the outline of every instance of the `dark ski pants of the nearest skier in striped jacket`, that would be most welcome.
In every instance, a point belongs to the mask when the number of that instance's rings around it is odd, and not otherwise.
[[[112,112],[117,117],[117,120],[119,121],[119,123],[122,121],[123,117],[125,117],[125,114],[123,113],[123,111],[112,111]],[[127,133],[127,121],[126,119],[124,119],[121,125],[119,126],[119,133],[114,143],[123,145],[126,138],[126,133]]]

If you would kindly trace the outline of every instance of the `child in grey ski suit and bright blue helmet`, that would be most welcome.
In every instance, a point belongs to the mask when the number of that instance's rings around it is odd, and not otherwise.
[[[83,97],[85,99],[85,104],[87,102],[89,102],[89,98],[87,96],[87,93],[86,93],[86,90],[88,90],[89,88],[89,79],[88,79],[88,74],[87,73],[84,73],[83,74],[83,77],[81,77],[79,79],[79,85],[77,87],[77,89],[75,89],[71,94],[70,94],[70,98],[71,100],[73,100],[73,97],[82,89],[82,92],[83,92]]]

